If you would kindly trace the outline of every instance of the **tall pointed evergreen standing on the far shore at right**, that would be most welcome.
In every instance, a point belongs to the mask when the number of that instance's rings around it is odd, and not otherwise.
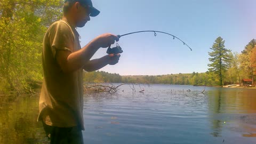
[[[231,50],[226,49],[224,44],[225,41],[223,41],[221,37],[218,37],[210,48],[213,51],[209,52],[211,57],[209,58],[209,61],[212,62],[208,64],[208,66],[211,67],[209,70],[218,74],[219,85],[223,85],[222,74],[227,70],[227,62],[230,61],[230,55],[228,55],[228,52],[231,52]]]

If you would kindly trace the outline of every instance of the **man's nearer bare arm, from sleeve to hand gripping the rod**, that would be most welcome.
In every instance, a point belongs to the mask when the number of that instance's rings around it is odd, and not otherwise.
[[[65,73],[71,73],[77,69],[83,68],[100,47],[108,47],[108,45],[114,44],[118,39],[119,38],[115,35],[103,34],[94,38],[92,42],[84,46],[83,49],[79,51],[71,53],[69,51],[59,50],[56,52],[55,57],[62,71]],[[100,62],[103,61],[101,60]],[[105,63],[101,65],[105,65]]]

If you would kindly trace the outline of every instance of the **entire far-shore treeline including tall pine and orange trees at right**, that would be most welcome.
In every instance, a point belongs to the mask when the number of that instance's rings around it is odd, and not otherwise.
[[[209,52],[209,71],[192,74],[157,76],[120,76],[103,71],[84,74],[85,82],[150,83],[179,85],[228,85],[241,84],[243,78],[255,81],[256,41],[252,39],[241,54],[225,48],[225,41],[218,37]],[[254,83],[253,83],[254,84]]]

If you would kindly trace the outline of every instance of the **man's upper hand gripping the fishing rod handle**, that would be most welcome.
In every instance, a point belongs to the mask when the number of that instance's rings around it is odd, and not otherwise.
[[[116,35],[109,34],[109,33],[99,35],[93,39],[93,43],[95,44],[95,46],[103,47],[103,48],[106,48],[111,44],[114,44],[115,41],[118,42],[119,38]]]

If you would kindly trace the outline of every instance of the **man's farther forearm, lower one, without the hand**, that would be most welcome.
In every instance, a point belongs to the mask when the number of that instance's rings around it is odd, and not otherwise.
[[[99,70],[108,65],[108,59],[109,55],[105,55],[102,58],[90,60],[87,63],[85,63],[83,69],[86,71]]]

